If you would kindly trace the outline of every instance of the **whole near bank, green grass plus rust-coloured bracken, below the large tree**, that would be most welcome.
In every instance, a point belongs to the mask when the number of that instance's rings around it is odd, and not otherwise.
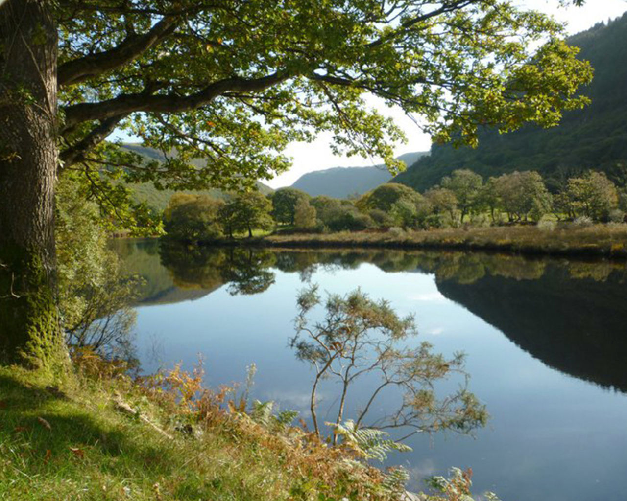
[[[54,383],[0,366],[0,500],[399,499],[355,450],[242,413],[198,373],[138,385],[81,364]]]

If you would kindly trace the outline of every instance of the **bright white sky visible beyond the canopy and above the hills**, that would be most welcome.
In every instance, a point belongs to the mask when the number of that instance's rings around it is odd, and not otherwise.
[[[586,5],[580,8],[559,7],[557,0],[520,0],[520,6],[538,9],[545,13],[552,14],[560,21],[567,23],[569,34],[579,33],[584,29],[594,26],[600,21],[607,21],[621,16],[627,11],[627,3],[624,0],[588,0]],[[377,106],[372,100],[372,105]],[[377,108],[386,115],[392,116],[394,120],[406,132],[408,143],[400,144],[396,148],[397,155],[408,152],[428,151],[431,147],[429,137],[422,133],[413,121],[409,120],[400,109],[390,109],[386,106],[378,105]],[[376,165],[381,163],[379,158],[364,159],[361,157],[336,157],[330,152],[330,135],[321,134],[313,143],[293,143],[287,149],[287,155],[293,158],[293,167],[286,173],[274,178],[266,184],[273,188],[291,185],[301,175],[313,170],[320,170],[329,167],[349,167],[354,165]]]

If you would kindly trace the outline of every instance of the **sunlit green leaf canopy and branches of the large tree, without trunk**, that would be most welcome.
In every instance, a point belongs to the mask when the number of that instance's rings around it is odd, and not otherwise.
[[[562,26],[510,0],[69,0],[55,15],[63,168],[158,187],[251,185],[322,131],[394,170],[403,133],[367,94],[474,145],[485,125],[555,125],[591,79]],[[105,142],[116,129],[166,162]]]

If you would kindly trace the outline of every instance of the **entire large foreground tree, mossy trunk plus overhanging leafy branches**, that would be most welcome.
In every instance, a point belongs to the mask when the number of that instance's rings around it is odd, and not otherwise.
[[[391,142],[402,134],[364,105],[366,93],[423,116],[438,141],[473,144],[479,125],[554,125],[584,103],[575,92],[591,76],[561,34],[508,0],[4,1],[3,358],[44,361],[61,344],[59,171],[82,173],[115,211],[124,194],[114,177],[251,185],[287,168],[290,141],[322,130],[338,150],[400,167]],[[120,152],[105,141],[116,128],[166,162]]]

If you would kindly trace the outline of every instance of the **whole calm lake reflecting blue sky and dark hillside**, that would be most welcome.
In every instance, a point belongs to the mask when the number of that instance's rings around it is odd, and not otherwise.
[[[451,356],[463,351],[470,390],[487,405],[475,436],[414,435],[389,457],[409,487],[472,467],[474,490],[503,501],[624,501],[627,473],[627,267],[621,262],[392,250],[196,249],[116,240],[125,269],[145,278],[135,346],[142,371],[202,354],[206,383],[244,381],[251,398],[308,419],[314,373],[289,346],[295,298],[308,284],[346,294],[361,287]],[[448,381],[444,395],[463,380]],[[359,381],[345,417],[377,385]],[[339,386],[319,391],[333,419]],[[386,413],[399,395],[377,400]]]

